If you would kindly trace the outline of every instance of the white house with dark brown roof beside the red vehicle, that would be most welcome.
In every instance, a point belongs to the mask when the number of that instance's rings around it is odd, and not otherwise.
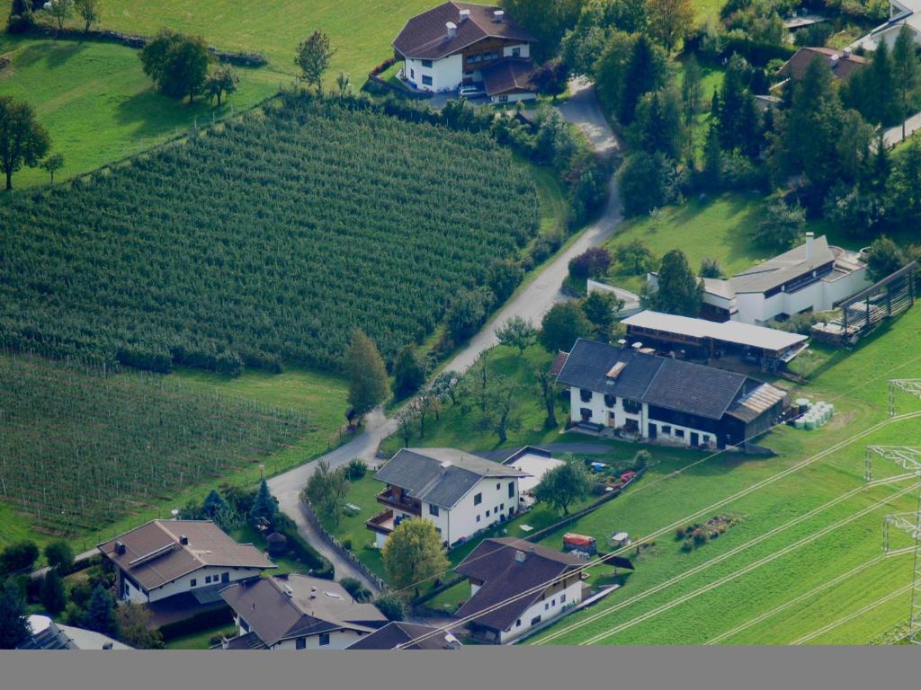
[[[484,539],[454,569],[471,587],[455,615],[472,616],[467,626],[476,638],[505,644],[582,601],[582,565],[572,554],[520,539]]]

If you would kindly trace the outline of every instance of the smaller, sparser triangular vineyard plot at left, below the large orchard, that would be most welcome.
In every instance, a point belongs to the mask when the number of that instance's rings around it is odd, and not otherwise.
[[[98,530],[307,431],[294,414],[155,374],[0,357],[0,498],[40,532]]]

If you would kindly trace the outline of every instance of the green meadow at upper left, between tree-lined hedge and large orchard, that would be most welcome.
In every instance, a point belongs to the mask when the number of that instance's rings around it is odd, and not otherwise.
[[[28,102],[64,154],[55,181],[144,151],[165,139],[250,108],[278,89],[267,70],[240,69],[239,92],[220,108],[159,94],[141,69],[139,52],[116,43],[4,36],[0,54],[13,62],[0,71],[0,94]],[[24,167],[17,188],[45,184],[48,174]]]

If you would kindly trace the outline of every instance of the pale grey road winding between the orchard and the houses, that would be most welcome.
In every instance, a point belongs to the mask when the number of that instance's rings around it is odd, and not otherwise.
[[[599,155],[616,155],[620,151],[620,144],[601,112],[598,99],[595,97],[594,86],[585,81],[573,80],[570,83],[570,93],[571,97],[558,106],[566,121],[577,125],[586,134],[592,148]],[[565,299],[560,287],[569,270],[569,260],[577,257],[589,247],[598,247],[603,244],[612,236],[614,228],[621,222],[620,200],[617,197],[613,178],[609,191],[607,205],[599,218],[583,230],[577,240],[566,247],[565,251],[544,266],[530,284],[516,293],[493,316],[483,330],[454,356],[447,364],[447,370],[462,374],[469,369],[481,352],[496,344],[496,328],[499,328],[511,316],[522,316],[533,324],[539,324],[551,306]],[[396,431],[396,428],[396,420],[386,417],[381,409],[376,409],[367,415],[363,430],[356,434],[355,438],[332,452],[322,455],[318,460],[325,460],[333,468],[343,466],[356,457],[365,461],[373,461],[380,442]],[[279,508],[297,523],[298,533],[324,557],[330,559],[337,580],[343,577],[355,577],[365,582],[372,592],[379,593],[374,582],[367,581],[367,578],[350,562],[327,546],[321,536],[305,520],[298,496],[316,467],[317,462],[311,462],[272,477],[268,482],[269,489],[278,499]]]

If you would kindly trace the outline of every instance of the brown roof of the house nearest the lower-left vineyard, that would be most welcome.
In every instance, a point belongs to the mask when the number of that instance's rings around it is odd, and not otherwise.
[[[124,553],[118,553],[118,544]],[[276,567],[258,548],[238,544],[210,520],[154,520],[97,548],[148,592],[204,566]]]

